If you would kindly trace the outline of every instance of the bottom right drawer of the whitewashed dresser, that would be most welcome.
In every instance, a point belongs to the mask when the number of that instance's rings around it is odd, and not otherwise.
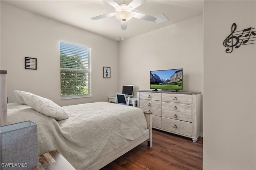
[[[192,123],[162,117],[162,129],[192,137]]]

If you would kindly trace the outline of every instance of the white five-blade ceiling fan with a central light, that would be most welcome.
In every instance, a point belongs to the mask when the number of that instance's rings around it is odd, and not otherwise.
[[[99,20],[102,18],[116,16],[116,18],[121,21],[122,30],[126,30],[127,21],[132,19],[132,17],[146,20],[146,21],[156,21],[156,17],[154,16],[149,16],[147,14],[142,14],[138,12],[132,12],[132,10],[144,4],[146,0],[133,0],[130,4],[125,4],[125,3],[117,4],[116,2],[114,2],[114,0],[106,0],[106,2],[111,6],[113,6],[116,9],[116,12],[96,16],[91,18],[92,20]]]

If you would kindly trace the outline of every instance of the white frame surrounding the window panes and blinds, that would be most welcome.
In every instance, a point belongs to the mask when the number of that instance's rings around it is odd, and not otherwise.
[[[88,45],[83,45],[83,44],[80,44],[80,43],[74,43],[72,41],[66,41],[66,40],[63,40],[63,39],[59,39],[58,43],[59,43],[59,57],[60,57],[60,54],[61,54],[61,49],[60,49],[60,43],[68,43],[70,45],[76,45],[78,47],[83,47],[83,48],[87,48],[88,50],[88,56],[87,56],[87,59],[88,59],[88,69],[85,69],[85,71],[82,71],[81,72],[86,72],[88,73],[88,80],[87,80],[87,84],[88,84],[88,94],[82,94],[82,95],[69,95],[69,96],[62,96],[61,95],[61,92],[60,92],[60,100],[66,100],[66,99],[77,99],[77,98],[88,98],[88,97],[92,97],[92,47],[88,46]],[[75,53],[75,52],[74,52]],[[85,58],[86,59],[86,58]],[[61,89],[61,71],[62,70],[69,70],[69,71],[72,71],[72,70],[79,70],[79,69],[75,69],[75,68],[63,68],[61,67],[61,58],[59,59],[60,61],[60,91],[62,90]],[[79,71],[78,71],[79,72]]]

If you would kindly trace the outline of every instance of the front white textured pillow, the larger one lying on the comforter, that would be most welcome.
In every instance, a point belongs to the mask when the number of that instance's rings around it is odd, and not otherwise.
[[[62,107],[52,102],[52,100],[29,92],[21,92],[20,95],[28,106],[46,116],[53,117],[56,120],[68,119],[69,117],[66,111]]]

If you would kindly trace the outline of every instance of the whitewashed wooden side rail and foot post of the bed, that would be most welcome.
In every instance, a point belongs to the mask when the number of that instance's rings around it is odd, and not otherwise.
[[[148,124],[148,133],[145,135],[139,137],[138,139],[134,141],[130,141],[123,145],[122,147],[119,147],[118,149],[113,150],[110,154],[100,158],[90,166],[86,168],[86,170],[91,169],[100,169],[115,160],[116,158],[119,158],[129,150],[132,150],[136,146],[140,145],[144,141],[148,141],[149,147],[152,147],[152,112],[144,112],[144,116],[146,118],[147,124]]]

